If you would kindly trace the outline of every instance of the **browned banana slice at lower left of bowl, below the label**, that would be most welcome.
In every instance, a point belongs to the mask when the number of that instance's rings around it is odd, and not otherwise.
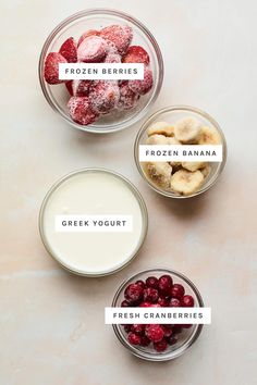
[[[162,188],[170,187],[172,166],[167,162],[149,162],[147,163],[147,173]]]

